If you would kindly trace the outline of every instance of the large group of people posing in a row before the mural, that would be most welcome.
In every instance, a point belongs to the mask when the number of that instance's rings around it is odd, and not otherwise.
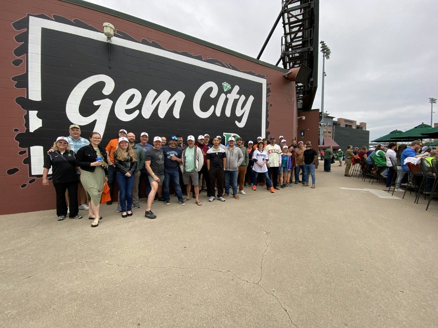
[[[97,132],[87,140],[81,137],[80,127],[72,124],[69,134],[57,138],[43,165],[43,185],[49,185],[47,176],[52,169],[58,220],[64,220],[67,214],[81,219],[79,209],[85,209],[93,220],[92,227],[97,227],[102,220],[99,206],[104,184],[108,184],[111,197],[106,204],[112,205],[115,181],[119,190],[117,212],[122,217],[132,216],[132,208],[141,207],[145,181],[145,217],[149,219],[156,217],[152,212],[154,200],[170,204],[170,181],[180,205],[192,197],[198,206],[202,205],[202,191],[207,193],[209,202],[225,202],[230,190],[232,198],[240,199],[238,193],[245,195],[244,187],[250,185],[254,191],[259,185],[266,185],[271,193],[291,187],[293,179],[295,184],[309,186],[309,175],[311,188],[315,188],[318,152],[310,141],[304,145],[292,140],[288,146],[283,136],[279,143],[274,136],[269,140],[259,136],[255,142],[244,143],[234,135],[224,145],[221,136],[210,138],[204,134],[196,139],[187,136],[187,144],[181,135],[170,136],[169,142],[164,136],[155,136],[151,145],[148,133],[141,133],[140,143],[136,143],[134,133],[120,129],[118,137],[103,149]]]

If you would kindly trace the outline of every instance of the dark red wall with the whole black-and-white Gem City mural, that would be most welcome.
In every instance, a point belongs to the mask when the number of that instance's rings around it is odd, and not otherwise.
[[[19,2],[0,1],[7,13],[0,21],[7,31],[0,50],[6,137],[0,214],[55,207],[53,187],[41,184],[43,158],[71,124],[85,138],[101,133],[104,147],[122,128],[168,139],[297,136],[295,86],[279,68],[105,14],[105,8]],[[116,27],[111,42],[101,28],[106,21]]]

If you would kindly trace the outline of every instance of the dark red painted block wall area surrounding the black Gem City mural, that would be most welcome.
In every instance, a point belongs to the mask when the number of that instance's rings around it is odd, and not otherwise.
[[[29,174],[27,149],[19,148],[18,142],[15,140],[16,135],[25,133],[28,126],[25,126],[26,111],[16,102],[18,97],[27,97],[26,89],[16,88],[15,81],[12,80],[13,77],[25,73],[26,55],[20,57],[14,55],[14,49],[20,45],[19,42],[14,40],[14,37],[21,34],[22,31],[15,30],[12,24],[28,14],[45,14],[51,18],[53,18],[53,15],[59,15],[71,21],[79,19],[86,24],[92,25],[99,31],[102,30],[102,24],[108,21],[114,24],[118,30],[124,31],[137,40],[145,38],[148,41],[157,42],[168,50],[187,51],[195,56],[201,55],[203,59],[211,57],[223,63],[230,63],[240,71],[252,71],[256,74],[264,75],[268,82],[268,88],[271,91],[267,99],[270,104],[268,107],[268,132],[276,137],[280,134],[285,136],[288,143],[293,137],[298,136],[295,86],[284,78],[283,72],[279,70],[132,21],[127,21],[120,17],[63,1],[21,0],[17,2],[1,0],[0,8],[2,9],[2,15],[0,16],[0,28],[2,31],[0,35],[0,42],[2,44],[0,48],[0,135],[2,137],[0,214],[55,208],[53,186],[42,186],[42,179],[40,177],[32,177]],[[215,42],[215,40],[208,41]],[[14,66],[13,61],[17,59],[22,59],[24,62],[18,65],[18,62],[15,61],[14,63],[18,66]],[[312,131],[311,122],[314,120],[314,115],[318,116],[318,112],[316,114],[309,112],[309,114],[305,115],[306,120],[300,120],[298,130],[309,128],[311,132],[309,132],[308,136],[311,138],[312,143],[316,145],[318,143],[318,131],[316,130],[315,133]],[[314,122],[318,122],[318,117],[316,117]],[[60,124],[68,126],[69,122],[60,122]],[[67,134],[66,130],[64,135]],[[254,131],[254,139],[258,134],[257,131]],[[84,133],[82,136],[87,137]],[[307,136],[305,139],[307,140]],[[106,146],[106,144],[102,146]]]

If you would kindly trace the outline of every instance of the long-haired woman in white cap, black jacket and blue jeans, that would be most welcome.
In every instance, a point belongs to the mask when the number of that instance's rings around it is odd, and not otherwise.
[[[132,187],[135,180],[134,172],[137,168],[137,156],[127,138],[119,138],[119,144],[114,150],[113,157],[122,217],[132,216]]]

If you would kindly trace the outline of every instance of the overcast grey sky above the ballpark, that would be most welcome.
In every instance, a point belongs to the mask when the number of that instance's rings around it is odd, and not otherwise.
[[[93,2],[253,57],[281,10],[281,0]],[[430,124],[428,98],[438,98],[438,1],[325,0],[319,8],[319,39],[332,50],[325,111],[367,122],[370,140]],[[261,60],[277,62],[282,35],[280,20]],[[320,59],[313,108],[321,107]]]

